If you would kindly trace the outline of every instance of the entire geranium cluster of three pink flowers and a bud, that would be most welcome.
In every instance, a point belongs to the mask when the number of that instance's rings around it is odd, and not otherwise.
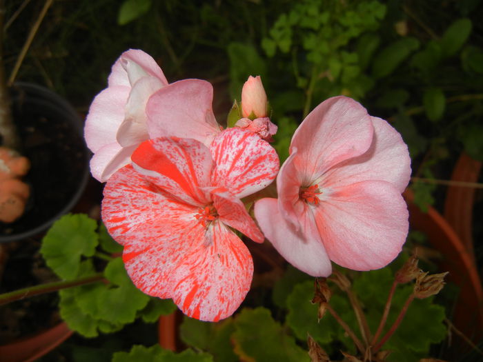
[[[233,128],[221,128],[212,103],[210,83],[168,83],[141,50],[121,55],[92,101],[85,136],[92,175],[106,182],[102,219],[137,288],[193,318],[230,316],[253,276],[234,230],[267,238],[313,276],[331,274],[331,261],[371,270],[397,256],[411,168],[391,125],[353,99],[328,99],[301,123],[279,170],[261,79],[245,83]],[[242,199],[275,178],[278,199],[256,201],[255,222]]]

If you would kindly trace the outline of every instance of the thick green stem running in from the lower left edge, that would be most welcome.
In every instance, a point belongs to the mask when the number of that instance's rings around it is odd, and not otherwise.
[[[33,287],[14,290],[13,292],[0,294],[0,305],[11,303],[12,301],[19,301],[21,299],[25,299],[34,295],[57,292],[57,290],[61,289],[94,283],[95,281],[101,281],[102,279],[104,279],[104,274],[100,272],[72,281],[55,281],[53,283],[46,283],[41,285],[35,285]]]

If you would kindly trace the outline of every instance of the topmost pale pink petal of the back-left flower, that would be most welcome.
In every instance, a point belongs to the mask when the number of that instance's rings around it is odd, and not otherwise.
[[[130,49],[122,53],[112,66],[108,85],[131,86],[146,75],[159,79],[164,85],[168,84],[163,71],[149,54],[142,50]]]

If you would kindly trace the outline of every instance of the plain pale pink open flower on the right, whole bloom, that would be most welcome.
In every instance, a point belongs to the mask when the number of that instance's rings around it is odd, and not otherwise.
[[[277,176],[278,199],[255,203],[266,238],[296,268],[331,274],[382,268],[408,232],[401,192],[411,160],[400,134],[346,97],[317,106],[295,132]]]

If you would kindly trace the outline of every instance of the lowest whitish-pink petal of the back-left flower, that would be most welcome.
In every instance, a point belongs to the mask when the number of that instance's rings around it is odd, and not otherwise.
[[[122,148],[117,142],[103,146],[90,159],[92,176],[99,182],[106,182],[114,172],[131,162],[135,149],[136,145]]]

